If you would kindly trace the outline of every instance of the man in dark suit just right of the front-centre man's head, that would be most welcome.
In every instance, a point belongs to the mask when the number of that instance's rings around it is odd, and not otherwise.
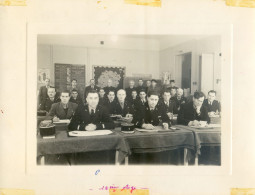
[[[165,112],[169,119],[173,119],[173,115],[178,113],[175,101],[171,100],[170,91],[165,90],[163,92],[163,98],[160,99],[159,106],[165,109]]]

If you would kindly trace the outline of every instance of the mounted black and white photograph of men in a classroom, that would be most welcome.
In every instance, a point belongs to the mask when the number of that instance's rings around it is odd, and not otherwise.
[[[37,165],[221,166],[220,35],[37,35]]]

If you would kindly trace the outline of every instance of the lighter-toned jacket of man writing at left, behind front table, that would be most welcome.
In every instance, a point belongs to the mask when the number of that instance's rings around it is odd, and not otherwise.
[[[52,104],[50,112],[45,119],[50,120],[50,119],[53,119],[54,116],[57,116],[59,119],[71,119],[77,107],[78,107],[77,104],[69,102],[68,110],[66,114],[61,102],[54,103]]]

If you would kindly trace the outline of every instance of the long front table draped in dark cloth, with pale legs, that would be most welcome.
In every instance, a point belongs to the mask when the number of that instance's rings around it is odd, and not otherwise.
[[[135,130],[133,134],[122,133],[120,128],[116,128],[110,135],[90,137],[68,137],[67,132],[61,129],[62,131],[56,132],[55,139],[42,139],[40,135],[37,136],[37,156],[116,150],[115,163],[125,161],[125,164],[128,164],[128,156],[132,152],[151,153],[184,149],[184,165],[188,165],[188,150],[195,151],[195,164],[198,164],[201,146],[215,146],[221,143],[220,128],[198,130],[183,125],[176,127],[179,130],[173,132]]]

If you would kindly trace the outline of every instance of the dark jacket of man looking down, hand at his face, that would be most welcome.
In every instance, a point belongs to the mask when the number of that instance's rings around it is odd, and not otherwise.
[[[193,106],[193,101],[182,104],[177,117],[178,124],[188,125],[190,121],[194,120],[207,121],[207,123],[210,123],[210,117],[208,116],[207,108],[202,105],[200,108],[200,115],[198,115],[196,109]]]

